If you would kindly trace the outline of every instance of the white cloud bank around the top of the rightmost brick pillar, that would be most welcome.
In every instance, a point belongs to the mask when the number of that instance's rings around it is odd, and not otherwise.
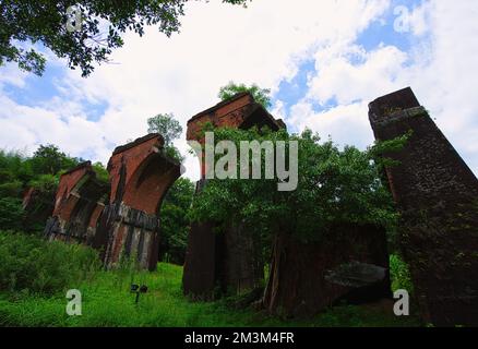
[[[415,46],[409,52],[384,45],[366,51],[355,43],[319,49],[307,97],[291,108],[289,120],[363,147],[372,141],[367,103],[411,86],[478,173],[478,7],[473,1],[426,1],[410,13]],[[324,106],[332,99],[338,107],[312,110],[313,104]]]

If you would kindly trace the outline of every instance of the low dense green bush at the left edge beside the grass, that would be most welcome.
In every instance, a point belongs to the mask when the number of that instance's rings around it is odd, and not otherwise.
[[[93,249],[0,231],[0,289],[53,294],[75,288],[99,269]]]

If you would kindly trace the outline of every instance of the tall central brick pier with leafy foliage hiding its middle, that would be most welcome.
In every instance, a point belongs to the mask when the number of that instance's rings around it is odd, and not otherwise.
[[[241,93],[206,109],[188,121],[187,139],[203,143],[201,129],[211,122],[217,128],[250,129],[267,125],[277,131],[285,128],[272,117],[251,94]],[[207,184],[205,168],[196,183],[196,192]],[[216,233],[218,222],[194,222],[191,226],[182,278],[183,291],[193,298],[212,299],[223,292],[240,293],[261,285],[263,265],[254,239],[243,227],[227,222],[224,233]]]

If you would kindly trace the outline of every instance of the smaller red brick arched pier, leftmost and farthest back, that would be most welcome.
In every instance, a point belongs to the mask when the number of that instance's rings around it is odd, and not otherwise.
[[[101,201],[108,189],[96,180],[89,161],[63,173],[45,233],[49,240],[93,244]],[[98,246],[99,248],[99,246]]]

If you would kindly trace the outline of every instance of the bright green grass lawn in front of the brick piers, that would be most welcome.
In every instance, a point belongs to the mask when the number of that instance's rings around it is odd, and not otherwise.
[[[181,291],[182,267],[160,263],[155,273],[98,272],[74,285],[82,292],[82,315],[65,313],[65,293],[34,296],[0,292],[0,326],[419,326],[416,317],[396,317],[391,306],[340,305],[309,320],[280,320],[230,300],[192,302]],[[131,282],[148,286],[139,304]]]

